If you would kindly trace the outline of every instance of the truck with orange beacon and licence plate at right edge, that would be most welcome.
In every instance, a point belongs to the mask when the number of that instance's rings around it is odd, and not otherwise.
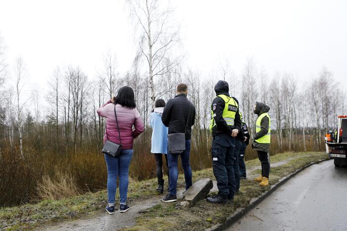
[[[325,135],[327,153],[334,158],[335,167],[347,166],[347,115],[338,116],[339,126],[335,133]]]

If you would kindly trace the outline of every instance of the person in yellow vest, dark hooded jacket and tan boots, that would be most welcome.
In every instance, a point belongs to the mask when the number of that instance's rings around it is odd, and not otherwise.
[[[258,158],[261,162],[261,175],[256,177],[255,180],[260,182],[261,186],[269,185],[269,173],[270,173],[270,161],[269,161],[269,149],[270,149],[270,132],[271,121],[268,114],[270,107],[257,102],[254,110],[254,114],[258,115],[255,132],[253,133],[252,148],[257,150]]]

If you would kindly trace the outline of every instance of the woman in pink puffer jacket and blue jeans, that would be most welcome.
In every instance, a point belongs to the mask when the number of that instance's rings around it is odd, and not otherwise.
[[[142,118],[136,109],[132,88],[129,86],[121,87],[116,97],[107,101],[106,104],[102,105],[102,107],[97,110],[99,116],[106,117],[107,129],[105,129],[104,143],[108,139],[116,144],[121,144],[114,112],[115,105],[123,146],[118,158],[105,154],[108,192],[108,205],[106,206],[106,211],[109,214],[113,214],[115,210],[117,176],[119,176],[120,211],[126,212],[129,210],[127,194],[132,144],[133,139],[141,134],[144,129]]]

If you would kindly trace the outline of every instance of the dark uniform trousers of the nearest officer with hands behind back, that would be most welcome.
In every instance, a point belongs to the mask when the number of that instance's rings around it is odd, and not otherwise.
[[[234,175],[235,138],[227,134],[214,136],[212,142],[213,173],[220,194],[234,198],[236,182]]]

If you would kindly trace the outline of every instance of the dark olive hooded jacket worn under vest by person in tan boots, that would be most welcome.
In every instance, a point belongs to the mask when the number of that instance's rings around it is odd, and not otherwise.
[[[258,117],[263,114],[263,113],[267,113],[269,112],[270,107],[267,106],[266,104],[257,102],[256,103],[256,109],[254,110],[254,114],[258,115]],[[256,120],[257,123],[257,120]],[[263,117],[260,121],[260,131],[256,132],[256,126],[257,124],[255,124],[254,126],[254,133],[253,133],[253,149],[257,150],[257,151],[262,151],[262,152],[269,152],[269,148],[270,148],[270,144],[260,144],[258,142],[256,142],[257,139],[259,139],[260,137],[266,135],[268,133],[269,130],[269,119],[267,118],[267,116]]]

